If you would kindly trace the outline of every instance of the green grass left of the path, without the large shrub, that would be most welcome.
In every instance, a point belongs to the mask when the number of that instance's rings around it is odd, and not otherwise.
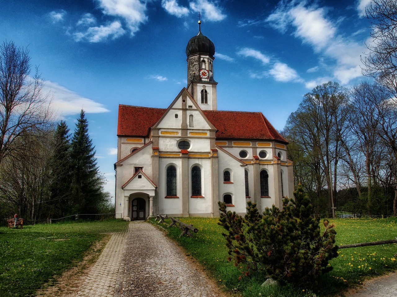
[[[81,261],[105,232],[121,232],[121,220],[0,227],[0,296],[31,296]]]

